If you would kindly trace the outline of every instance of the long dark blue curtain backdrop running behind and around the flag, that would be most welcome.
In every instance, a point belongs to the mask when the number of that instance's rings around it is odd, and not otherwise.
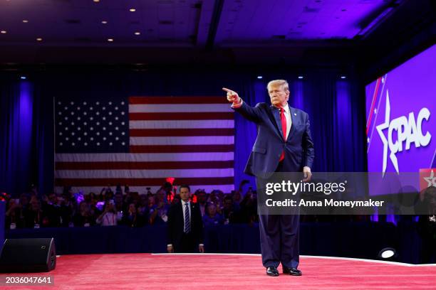
[[[217,96],[229,87],[254,106],[269,102],[266,84],[284,78],[290,83],[290,104],[308,112],[315,143],[313,171],[365,171],[365,106],[363,87],[352,77],[341,80],[336,70],[313,70],[299,80],[295,73],[269,73],[258,80],[251,73],[199,71],[39,73],[19,80],[0,76],[0,190],[18,195],[36,183],[40,193],[53,188],[53,98],[129,96]],[[256,138],[256,126],[235,114],[234,182]]]

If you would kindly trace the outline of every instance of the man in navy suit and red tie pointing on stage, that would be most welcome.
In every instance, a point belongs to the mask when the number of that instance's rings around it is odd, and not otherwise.
[[[256,107],[246,104],[237,92],[223,88],[232,108],[257,125],[257,138],[244,173],[269,178],[274,172],[303,172],[303,181],[309,181],[314,150],[308,114],[289,107],[286,80],[273,80],[267,88],[271,105],[259,103]],[[280,263],[284,274],[301,276],[297,269],[299,222],[298,213],[259,215],[262,264],[269,276],[279,276]]]

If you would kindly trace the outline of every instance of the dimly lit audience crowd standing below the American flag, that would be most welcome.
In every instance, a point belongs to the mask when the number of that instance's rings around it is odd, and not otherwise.
[[[103,188],[100,193],[38,194],[36,188],[19,198],[5,195],[6,228],[92,227],[126,225],[144,227],[167,222],[170,206],[180,202],[177,189],[165,183],[156,193],[124,190],[121,186]],[[249,190],[242,196],[239,190],[224,194],[221,190],[206,193],[196,190],[191,200],[197,203],[205,226],[235,223],[253,224],[259,221],[256,192]]]

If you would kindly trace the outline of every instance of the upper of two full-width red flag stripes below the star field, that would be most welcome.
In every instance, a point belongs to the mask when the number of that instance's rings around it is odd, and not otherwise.
[[[233,161],[56,162],[56,170],[233,168]]]

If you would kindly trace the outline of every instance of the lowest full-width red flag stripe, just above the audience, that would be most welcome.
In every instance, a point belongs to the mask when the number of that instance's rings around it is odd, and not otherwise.
[[[129,186],[162,185],[165,178],[56,178],[55,186],[108,186],[121,184]],[[190,186],[233,184],[233,177],[212,178],[176,178],[175,184],[189,184]]]

